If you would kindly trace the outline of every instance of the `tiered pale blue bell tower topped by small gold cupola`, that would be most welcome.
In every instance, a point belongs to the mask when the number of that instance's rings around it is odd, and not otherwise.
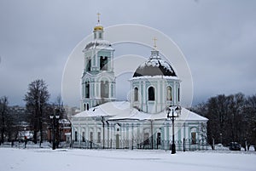
[[[104,40],[104,28],[98,22],[93,30],[93,41],[87,43],[84,53],[82,75],[81,111],[115,100],[115,77],[113,73],[113,51],[111,43]]]

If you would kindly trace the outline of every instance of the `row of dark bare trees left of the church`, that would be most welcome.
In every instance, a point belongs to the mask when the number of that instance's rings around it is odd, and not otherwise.
[[[55,103],[49,103],[48,85],[42,79],[32,81],[28,85],[27,92],[24,96],[26,102],[26,111],[24,115],[15,113],[10,110],[9,100],[7,96],[0,98],[0,145],[4,141],[12,141],[20,139],[20,122],[28,123],[32,130],[32,141],[34,143],[42,143],[47,139],[47,131],[51,125],[49,116],[53,115],[55,108],[58,107],[58,115],[61,118],[67,118],[63,110],[61,96],[56,98]],[[24,136],[24,135],[23,135]]]

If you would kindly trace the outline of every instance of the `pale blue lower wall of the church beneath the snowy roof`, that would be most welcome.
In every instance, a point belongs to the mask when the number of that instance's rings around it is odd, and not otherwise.
[[[151,125],[152,122],[152,125]],[[206,125],[206,122],[201,122]],[[185,122],[176,121],[175,123],[175,143],[177,145],[177,150],[183,150],[183,139],[186,141],[186,145],[189,145],[188,148],[198,149],[204,148],[200,146],[199,143],[202,142],[201,136],[201,123],[198,122]],[[152,132],[153,129],[153,132]],[[196,133],[196,141],[195,144],[191,144],[191,131],[195,131]],[[103,140],[103,128],[102,122],[100,118],[93,119],[78,119],[77,121],[73,121],[73,140],[75,140],[74,132],[78,132],[78,137],[76,143],[83,144],[83,132],[84,139],[90,141],[90,132],[93,133],[93,143],[96,145],[103,145],[106,148],[116,147],[116,138],[119,135],[119,148],[125,148],[128,145],[131,145],[131,141],[144,142],[146,138],[148,140],[149,145],[147,148],[151,148],[151,137],[153,134],[154,143],[157,142],[157,134],[160,133],[160,142],[164,143],[162,145],[170,145],[172,143],[172,123],[171,121],[166,120],[157,120],[157,121],[108,121],[108,124],[105,124],[104,127],[104,140]],[[101,140],[98,141],[98,133],[100,133]],[[147,137],[145,137],[147,136]],[[206,141],[205,141],[206,142]],[[129,144],[130,143],[130,144]],[[190,143],[190,144],[189,144]],[[154,144],[154,148],[157,148]]]

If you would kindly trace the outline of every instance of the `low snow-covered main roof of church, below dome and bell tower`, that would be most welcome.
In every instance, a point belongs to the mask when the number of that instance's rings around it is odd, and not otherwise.
[[[160,113],[145,113],[130,107],[128,101],[108,102],[96,107],[90,108],[89,111],[82,111],[73,117],[108,117],[108,121],[113,120],[160,120],[166,119],[166,111]],[[201,117],[193,111],[182,108],[181,114],[177,117],[181,121],[207,121],[206,117]]]

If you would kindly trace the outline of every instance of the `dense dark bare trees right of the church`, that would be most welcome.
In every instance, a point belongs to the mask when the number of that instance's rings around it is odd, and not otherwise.
[[[192,111],[207,117],[209,144],[256,146],[256,94],[219,94],[207,102],[196,105]]]

